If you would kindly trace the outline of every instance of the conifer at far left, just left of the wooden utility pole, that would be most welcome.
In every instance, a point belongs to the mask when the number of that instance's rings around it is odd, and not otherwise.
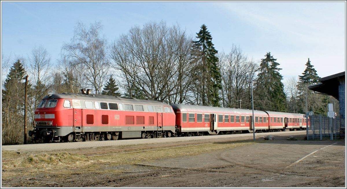
[[[5,79],[1,96],[2,144],[23,143],[25,75],[22,63],[17,60]]]

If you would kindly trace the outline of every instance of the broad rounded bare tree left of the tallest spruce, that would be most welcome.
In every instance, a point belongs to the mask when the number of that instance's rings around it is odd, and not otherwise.
[[[112,67],[119,70],[127,96],[183,102],[190,42],[178,26],[149,22],[132,27],[113,42]],[[189,68],[188,68],[189,70]],[[180,90],[180,91],[179,91]]]

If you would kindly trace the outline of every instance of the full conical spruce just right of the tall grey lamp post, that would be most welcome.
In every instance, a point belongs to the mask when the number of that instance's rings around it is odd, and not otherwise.
[[[270,52],[261,59],[254,90],[255,104],[260,106],[261,110],[286,110],[286,94],[281,82],[283,78],[278,72],[281,68],[277,67],[279,63],[275,62],[276,60]]]

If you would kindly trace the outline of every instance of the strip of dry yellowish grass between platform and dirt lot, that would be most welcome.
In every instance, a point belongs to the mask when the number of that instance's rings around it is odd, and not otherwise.
[[[16,177],[18,172],[23,174],[54,173],[55,176],[65,177],[68,174],[84,172],[119,172],[119,170],[105,170],[105,167],[123,164],[134,165],[141,162],[150,162],[163,158],[197,155],[204,152],[242,147],[260,141],[212,143],[179,148],[159,149],[143,152],[117,153],[96,157],[86,157],[76,153],[25,153],[3,151],[2,162],[3,178]],[[5,170],[5,171],[4,171]]]

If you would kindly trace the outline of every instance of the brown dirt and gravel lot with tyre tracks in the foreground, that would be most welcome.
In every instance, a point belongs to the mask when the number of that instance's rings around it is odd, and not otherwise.
[[[273,135],[272,141],[189,157],[103,165],[104,173],[12,177],[2,187],[346,187],[345,141]]]

